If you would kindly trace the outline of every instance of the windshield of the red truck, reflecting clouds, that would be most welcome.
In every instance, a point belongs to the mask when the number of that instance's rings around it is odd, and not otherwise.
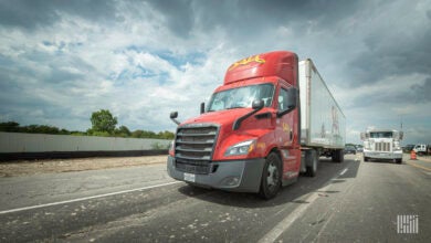
[[[207,112],[232,108],[252,107],[253,101],[262,99],[266,107],[271,106],[274,95],[274,85],[260,84],[236,87],[214,93],[210,99]]]

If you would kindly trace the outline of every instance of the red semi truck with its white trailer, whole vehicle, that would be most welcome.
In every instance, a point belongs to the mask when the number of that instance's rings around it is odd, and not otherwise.
[[[344,160],[345,116],[312,60],[277,51],[233,63],[201,115],[178,124],[170,177],[189,184],[257,192],[265,199],[320,154]]]

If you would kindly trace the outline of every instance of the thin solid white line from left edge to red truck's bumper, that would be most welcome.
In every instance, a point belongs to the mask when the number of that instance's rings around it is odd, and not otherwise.
[[[176,184],[176,183],[182,183],[182,181],[174,181],[174,182],[168,182],[168,183],[162,183],[162,184],[148,186],[148,187],[144,187],[144,188],[116,191],[116,192],[91,196],[91,197],[78,198],[78,199],[72,199],[72,200],[66,200],[66,201],[51,202],[51,203],[45,203],[45,204],[30,205],[30,207],[23,207],[23,208],[19,208],[19,209],[4,210],[4,211],[0,211],[0,214],[11,213],[11,212],[20,212],[20,211],[25,211],[25,210],[31,210],[31,209],[46,208],[46,207],[51,207],[51,205],[61,205],[61,204],[66,204],[66,203],[71,203],[71,202],[85,201],[85,200],[90,200],[90,199],[105,198],[105,197],[109,197],[109,196],[124,194],[124,193],[128,193],[128,192],[133,192],[133,191],[143,191],[143,190],[147,190],[147,189],[160,188],[160,187]]]

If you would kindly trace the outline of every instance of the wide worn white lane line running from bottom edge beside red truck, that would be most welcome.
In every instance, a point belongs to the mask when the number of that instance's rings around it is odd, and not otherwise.
[[[348,169],[345,168],[339,176],[343,176]],[[333,186],[332,181],[336,180],[339,176],[336,176],[328,180],[326,184],[318,189],[318,191],[327,191],[330,186]],[[303,203],[298,205],[292,213],[290,213],[284,220],[282,220],[277,225],[274,226],[270,232],[267,232],[263,237],[261,237],[257,242],[259,243],[272,243],[280,237],[280,235],[283,234],[291,225],[302,215],[304,212],[308,209],[311,204],[313,204],[314,201],[316,201],[319,198],[319,192],[317,190],[314,192],[311,192],[312,194],[308,196],[305,201],[307,203]]]

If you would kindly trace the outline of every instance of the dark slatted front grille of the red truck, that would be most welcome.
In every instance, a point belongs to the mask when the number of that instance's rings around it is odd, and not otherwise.
[[[217,134],[217,126],[178,128],[175,141],[176,168],[189,173],[210,173]]]

